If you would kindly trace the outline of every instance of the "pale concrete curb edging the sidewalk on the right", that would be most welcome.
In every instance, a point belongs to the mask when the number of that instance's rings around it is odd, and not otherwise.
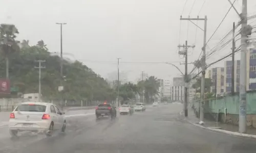
[[[193,123],[187,119],[185,119],[187,122],[189,122],[190,124],[193,124],[195,126],[198,126],[202,129],[206,129],[206,130],[209,130],[209,131],[215,131],[215,132],[219,132],[219,133],[224,133],[224,134],[228,134],[228,135],[231,135],[231,136],[240,136],[240,137],[247,137],[247,138],[254,138],[256,139],[256,135],[249,135],[249,134],[243,134],[243,133],[238,133],[238,132],[231,132],[231,131],[226,131],[226,130],[220,130],[220,129],[211,129],[209,127],[205,127],[205,126],[202,126],[202,125],[199,125],[197,123]]]

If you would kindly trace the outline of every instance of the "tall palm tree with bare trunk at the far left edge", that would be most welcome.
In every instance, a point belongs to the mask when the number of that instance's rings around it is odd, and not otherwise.
[[[6,59],[6,78],[9,78],[9,56],[11,53],[19,52],[19,41],[16,41],[18,30],[13,24],[0,25],[0,50]]]

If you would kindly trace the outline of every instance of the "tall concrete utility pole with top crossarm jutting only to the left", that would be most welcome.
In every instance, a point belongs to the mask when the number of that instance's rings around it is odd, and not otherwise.
[[[204,32],[204,45],[202,47],[203,50],[203,55],[202,55],[202,77],[201,77],[201,103],[200,103],[200,121],[203,122],[204,120],[204,90],[205,90],[205,50],[206,50],[206,29],[207,29],[207,16],[205,16],[204,18],[199,18],[197,16],[197,18],[182,18],[182,16],[180,16],[180,20],[189,20],[190,22],[192,22],[193,24],[195,24],[199,29],[201,29]],[[204,21],[204,30],[202,28],[200,28],[196,23],[194,23],[192,20],[203,20]]]

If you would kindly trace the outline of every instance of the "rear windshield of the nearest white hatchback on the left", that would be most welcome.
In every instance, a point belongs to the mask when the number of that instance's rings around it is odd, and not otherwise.
[[[46,106],[44,105],[19,105],[15,111],[22,111],[22,112],[45,112]]]

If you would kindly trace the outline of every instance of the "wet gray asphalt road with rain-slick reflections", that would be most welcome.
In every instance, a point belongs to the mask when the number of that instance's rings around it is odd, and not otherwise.
[[[80,111],[81,116],[68,114],[65,135],[50,138],[25,133],[10,139],[6,127],[0,129],[0,152],[256,152],[256,139],[200,129],[183,120],[181,110],[179,104],[147,107],[113,120],[96,120],[94,110]]]

